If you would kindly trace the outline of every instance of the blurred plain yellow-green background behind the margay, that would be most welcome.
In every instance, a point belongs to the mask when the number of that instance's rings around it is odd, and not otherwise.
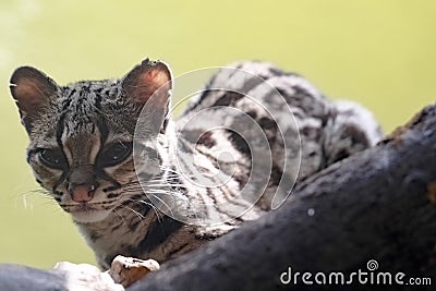
[[[435,100],[435,13],[431,0],[0,0],[0,263],[94,263],[70,218],[36,191],[8,88],[16,66],[63,84],[122,76],[145,57],[175,75],[267,60],[363,104],[389,132]]]

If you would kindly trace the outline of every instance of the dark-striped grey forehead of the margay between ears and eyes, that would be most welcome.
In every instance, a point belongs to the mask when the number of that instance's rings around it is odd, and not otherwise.
[[[38,121],[29,149],[62,146],[77,134],[107,136],[108,142],[131,141],[132,110],[119,80],[71,83],[60,88],[55,104]]]

